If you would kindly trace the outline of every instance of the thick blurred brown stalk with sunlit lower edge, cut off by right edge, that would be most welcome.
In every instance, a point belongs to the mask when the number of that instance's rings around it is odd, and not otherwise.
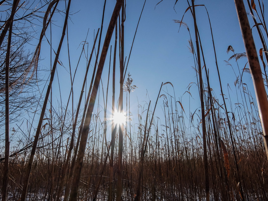
[[[252,32],[247,18],[247,13],[245,11],[245,6],[243,1],[235,0],[237,16],[240,23],[240,28],[245,44],[245,49],[247,53],[248,63],[250,66],[250,72],[255,88],[257,103],[260,113],[260,121],[263,129],[263,140],[265,144],[266,156],[268,159],[268,101],[266,96],[266,91],[264,88],[262,72],[260,69],[260,64],[258,60],[257,51],[255,48],[255,43],[253,40]]]

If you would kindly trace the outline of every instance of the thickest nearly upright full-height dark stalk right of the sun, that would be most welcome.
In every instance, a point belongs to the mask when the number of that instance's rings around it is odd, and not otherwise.
[[[196,42],[196,51],[197,51],[197,58],[198,58],[198,71],[199,71],[199,83],[200,83],[199,87],[200,87],[200,101],[201,101],[201,114],[202,114],[206,201],[209,201],[209,172],[208,172],[209,166],[208,166],[208,160],[207,160],[206,121],[205,121],[205,109],[204,109],[204,98],[203,98],[204,92],[203,92],[203,79],[202,79],[202,69],[201,69],[200,50],[199,50],[199,42],[198,42],[198,34],[197,34],[194,0],[192,0],[192,9],[193,9],[193,21],[195,25],[195,42]]]

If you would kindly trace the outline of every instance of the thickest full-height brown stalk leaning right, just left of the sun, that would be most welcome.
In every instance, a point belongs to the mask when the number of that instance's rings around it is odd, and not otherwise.
[[[108,30],[106,33],[106,37],[104,40],[103,49],[102,49],[101,57],[99,60],[99,66],[98,66],[98,69],[96,72],[96,77],[95,77],[94,85],[92,88],[92,93],[90,96],[90,102],[89,102],[88,108],[87,108],[85,123],[83,126],[83,131],[81,133],[79,152],[77,155],[77,162],[76,162],[76,166],[75,166],[75,174],[74,174],[72,189],[71,189],[71,193],[70,193],[70,201],[74,201],[77,199],[77,193],[78,193],[80,176],[81,176],[81,169],[82,169],[82,165],[83,165],[85,147],[86,147],[87,137],[88,137],[88,133],[89,133],[90,120],[91,120],[91,116],[92,116],[92,112],[93,112],[93,108],[94,108],[94,104],[95,104],[96,95],[98,92],[99,82],[101,79],[101,74],[102,74],[106,54],[107,54],[107,51],[109,48],[111,36],[113,34],[114,26],[116,24],[117,17],[119,15],[121,6],[122,6],[122,1],[117,1],[115,8],[114,8],[114,11],[113,11],[113,14],[111,16],[111,20],[110,20],[110,24],[109,24],[109,27],[108,27]]]

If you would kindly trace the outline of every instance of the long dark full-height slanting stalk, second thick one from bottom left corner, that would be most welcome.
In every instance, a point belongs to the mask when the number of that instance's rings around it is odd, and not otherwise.
[[[52,68],[51,76],[50,76],[50,82],[49,82],[49,85],[47,87],[47,93],[46,93],[46,96],[44,98],[42,111],[41,111],[41,114],[40,114],[38,126],[37,126],[37,129],[36,129],[35,138],[34,138],[34,141],[33,141],[32,151],[31,151],[31,155],[30,155],[30,159],[29,159],[29,163],[28,163],[28,167],[27,167],[27,171],[26,171],[26,175],[25,175],[25,179],[24,179],[24,186],[23,186],[23,191],[22,191],[22,195],[21,195],[21,201],[25,201],[25,198],[26,198],[26,193],[27,193],[27,188],[28,188],[28,183],[29,183],[29,177],[30,177],[31,169],[32,169],[33,157],[35,155],[35,150],[36,150],[36,147],[37,147],[40,131],[41,131],[41,128],[42,128],[42,122],[43,122],[44,114],[45,114],[45,111],[46,111],[47,101],[48,101],[48,98],[49,98],[51,85],[52,85],[52,82],[53,82],[53,79],[54,79],[56,66],[57,66],[57,63],[58,63],[59,53],[61,51],[62,42],[63,42],[64,36],[65,36],[65,30],[66,30],[68,16],[69,16],[70,3],[71,3],[71,0],[69,0],[69,2],[68,2],[68,7],[67,7],[67,10],[66,10],[66,16],[65,16],[64,26],[63,26],[63,30],[62,30],[61,40],[59,42],[57,54],[55,56],[55,60],[54,60],[54,64],[53,64],[53,68]]]

